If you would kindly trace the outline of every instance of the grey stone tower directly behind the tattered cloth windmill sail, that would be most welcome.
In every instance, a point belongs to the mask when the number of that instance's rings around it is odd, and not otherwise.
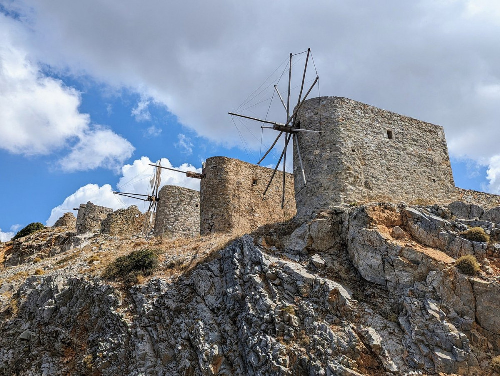
[[[199,235],[199,192],[165,185],[159,191],[154,236],[194,237]]]

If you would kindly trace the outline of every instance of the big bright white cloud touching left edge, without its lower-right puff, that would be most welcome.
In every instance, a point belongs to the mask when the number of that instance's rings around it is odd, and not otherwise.
[[[15,24],[0,13],[0,148],[12,153],[49,154],[88,126],[78,111],[80,94],[43,76],[16,45]]]

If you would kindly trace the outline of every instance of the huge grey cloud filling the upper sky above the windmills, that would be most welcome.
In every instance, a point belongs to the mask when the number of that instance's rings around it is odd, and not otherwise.
[[[321,95],[443,125],[454,157],[498,155],[500,50],[491,48],[500,44],[497,1],[318,0],[311,6],[220,0],[198,1],[196,11],[186,1],[17,0],[5,6],[25,17],[32,51],[42,61],[143,94],[138,119],[155,101],[198,135],[241,145],[226,113],[289,52],[311,47]],[[275,19],[300,27],[276,28]],[[269,88],[262,99],[272,95]],[[276,102],[269,118],[279,120]],[[267,103],[248,113],[262,116]],[[258,150],[258,126],[239,128]],[[272,137],[264,132],[264,143]]]

